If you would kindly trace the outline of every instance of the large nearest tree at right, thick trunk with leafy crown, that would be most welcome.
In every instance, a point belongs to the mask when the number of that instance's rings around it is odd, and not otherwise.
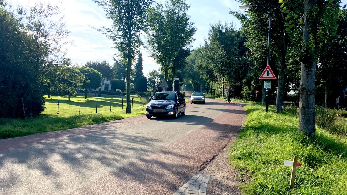
[[[286,30],[301,51],[298,53],[301,60],[299,133],[315,139],[316,62],[331,48],[330,37],[336,36],[339,1],[280,0],[280,3],[283,12],[288,14]]]

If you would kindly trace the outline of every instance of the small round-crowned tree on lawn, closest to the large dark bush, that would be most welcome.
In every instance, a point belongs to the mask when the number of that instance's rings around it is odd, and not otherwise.
[[[57,75],[57,88],[67,93],[70,101],[70,96],[83,85],[84,75],[75,67],[63,67]]]

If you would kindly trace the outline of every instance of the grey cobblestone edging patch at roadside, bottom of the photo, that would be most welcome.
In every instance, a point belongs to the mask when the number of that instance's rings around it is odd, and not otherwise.
[[[207,183],[211,176],[196,174],[180,187],[173,195],[206,195]]]

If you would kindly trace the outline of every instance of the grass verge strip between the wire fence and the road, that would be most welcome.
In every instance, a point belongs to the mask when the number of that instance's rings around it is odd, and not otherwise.
[[[0,119],[0,139],[119,120],[144,115],[146,113],[145,110],[146,108],[142,107],[132,109],[132,113],[130,114],[125,113],[125,110],[117,110],[116,112],[102,112],[59,118],[50,115],[41,115],[27,119]]]

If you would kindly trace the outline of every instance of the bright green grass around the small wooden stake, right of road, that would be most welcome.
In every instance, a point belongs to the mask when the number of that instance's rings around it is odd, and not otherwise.
[[[316,141],[298,134],[296,112],[265,113],[260,104],[245,106],[245,128],[230,150],[230,162],[252,173],[244,194],[347,194],[347,137],[316,128]],[[289,111],[289,112],[288,112]],[[298,156],[295,187],[289,190],[290,167]]]

